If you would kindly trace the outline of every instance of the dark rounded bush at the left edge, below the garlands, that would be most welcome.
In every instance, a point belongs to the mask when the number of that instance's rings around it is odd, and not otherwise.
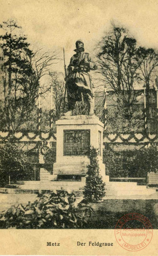
[[[27,179],[33,173],[33,169],[27,162],[27,154],[13,141],[7,141],[0,145],[0,185],[5,186],[18,179]]]

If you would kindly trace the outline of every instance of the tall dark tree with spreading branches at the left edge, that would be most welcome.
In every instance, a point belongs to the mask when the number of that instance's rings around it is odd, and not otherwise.
[[[1,116],[7,130],[16,131],[29,119],[31,111],[36,108],[36,99],[41,77],[48,75],[56,63],[57,54],[33,52],[25,36],[20,35],[21,27],[9,20],[1,28],[6,31],[1,39]],[[42,93],[46,90],[42,87]]]

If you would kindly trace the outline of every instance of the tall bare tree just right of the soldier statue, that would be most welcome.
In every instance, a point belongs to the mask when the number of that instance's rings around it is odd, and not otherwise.
[[[136,100],[134,84],[139,79],[138,68],[142,63],[136,40],[125,28],[112,25],[96,50],[99,80],[117,95],[117,103],[126,109],[126,117],[130,120]]]

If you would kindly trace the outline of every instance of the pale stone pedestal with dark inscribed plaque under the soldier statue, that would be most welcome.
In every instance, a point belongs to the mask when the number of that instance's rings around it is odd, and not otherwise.
[[[93,116],[63,116],[56,122],[57,155],[53,167],[53,180],[78,179],[85,181],[89,158],[87,150],[90,145],[98,149],[99,166],[104,181],[105,165],[103,154],[103,123]]]

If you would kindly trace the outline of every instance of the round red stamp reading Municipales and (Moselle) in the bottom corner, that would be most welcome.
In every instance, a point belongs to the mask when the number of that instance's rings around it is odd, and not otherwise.
[[[119,245],[127,251],[143,250],[153,236],[150,220],[139,213],[122,216],[115,227],[115,237]]]

